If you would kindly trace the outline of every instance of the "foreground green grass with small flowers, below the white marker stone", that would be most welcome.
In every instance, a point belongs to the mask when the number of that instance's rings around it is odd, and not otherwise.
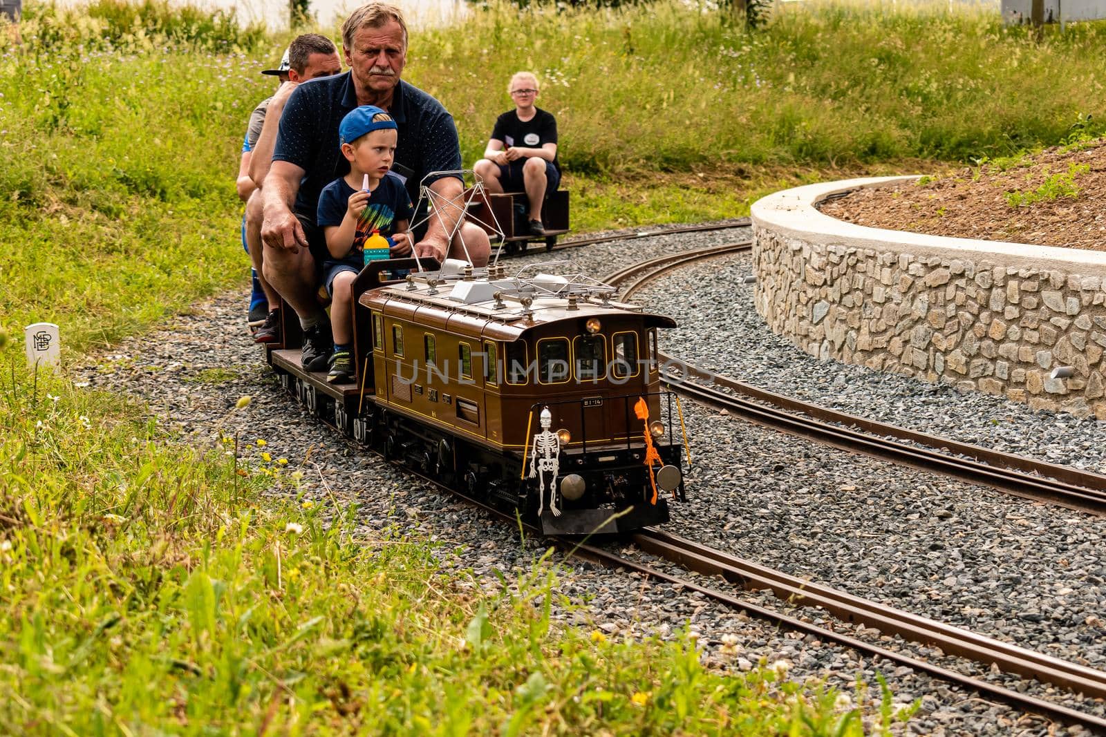
[[[557,627],[560,554],[472,593],[401,515],[358,535],[355,507],[309,498],[294,459],[240,433],[242,410],[194,450],[113,396],[2,373],[12,731],[859,735],[862,716],[909,712],[779,666],[710,672],[686,634]],[[262,502],[273,484],[286,502]]]

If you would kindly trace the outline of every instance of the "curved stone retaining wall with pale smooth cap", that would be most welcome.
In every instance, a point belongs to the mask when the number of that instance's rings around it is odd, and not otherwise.
[[[862,228],[813,207],[904,179],[753,204],[755,304],[772,330],[825,360],[1106,419],[1106,253]],[[1073,376],[1050,378],[1061,366]]]

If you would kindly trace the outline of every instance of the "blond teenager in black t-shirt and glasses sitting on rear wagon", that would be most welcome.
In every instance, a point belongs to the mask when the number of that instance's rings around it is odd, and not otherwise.
[[[534,105],[538,77],[518,72],[507,87],[514,109],[495,120],[484,157],[473,165],[490,192],[525,192],[530,233],[544,235],[542,202],[561,183],[556,160],[556,118]]]

